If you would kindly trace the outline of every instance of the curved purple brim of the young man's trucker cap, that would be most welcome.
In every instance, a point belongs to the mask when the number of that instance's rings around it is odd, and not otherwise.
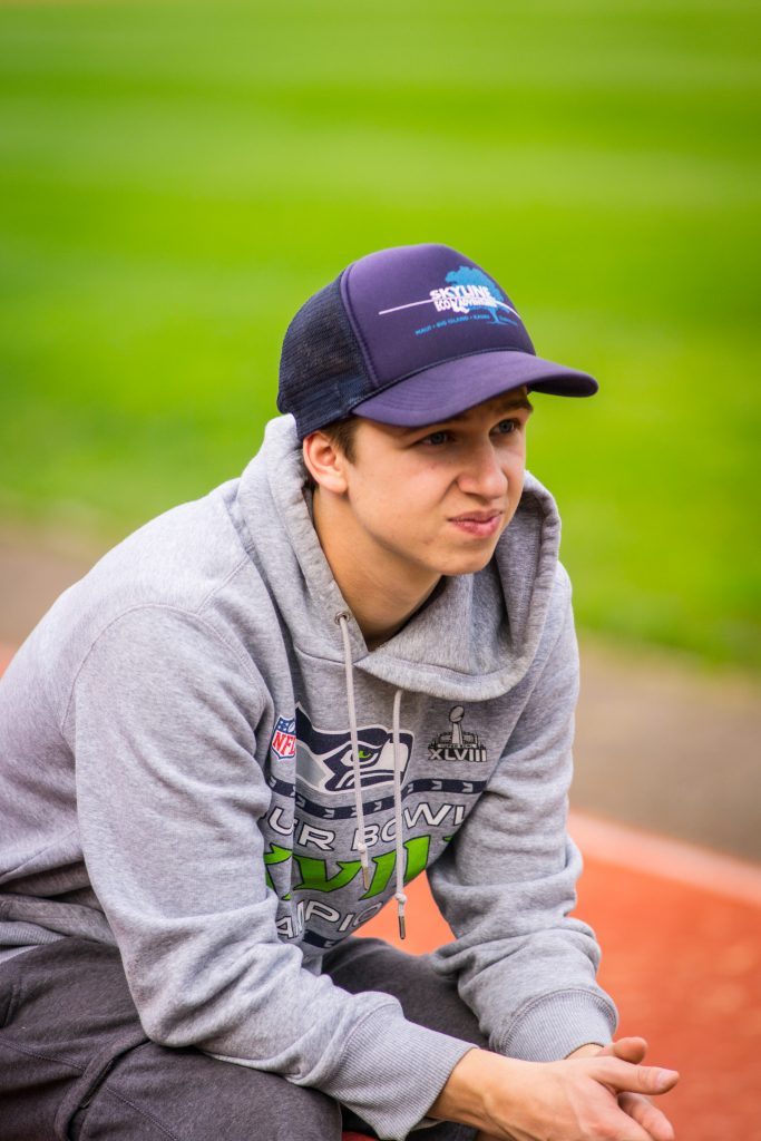
[[[422,428],[460,415],[501,393],[526,386],[551,396],[593,396],[593,377],[517,350],[492,350],[445,361],[362,400],[351,410],[379,423]]]

